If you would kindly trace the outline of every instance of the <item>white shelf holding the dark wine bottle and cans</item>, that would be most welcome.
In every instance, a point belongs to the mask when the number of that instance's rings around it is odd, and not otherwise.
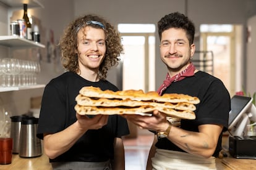
[[[0,45],[6,47],[14,48],[28,48],[28,47],[42,47],[45,45],[38,42],[33,42],[25,38],[20,38],[19,36],[0,36]]]

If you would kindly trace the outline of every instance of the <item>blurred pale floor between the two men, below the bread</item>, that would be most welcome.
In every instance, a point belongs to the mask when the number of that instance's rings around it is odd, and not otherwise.
[[[145,170],[153,134],[124,139],[126,170]]]

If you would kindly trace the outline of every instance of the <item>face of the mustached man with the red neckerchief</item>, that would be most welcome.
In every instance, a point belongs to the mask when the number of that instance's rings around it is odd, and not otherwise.
[[[189,44],[185,30],[169,28],[163,31],[160,43],[161,60],[168,67],[169,75],[174,76],[189,65],[195,45]]]

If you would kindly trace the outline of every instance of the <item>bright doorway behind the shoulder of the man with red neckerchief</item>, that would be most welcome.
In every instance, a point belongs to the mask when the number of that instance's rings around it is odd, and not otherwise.
[[[236,29],[236,25],[200,26],[200,50],[213,52],[213,76],[223,81],[231,96],[241,88],[237,83],[241,80],[241,62],[236,62],[241,57],[241,46],[237,47],[236,43],[239,42],[237,38],[242,38],[237,36]]]

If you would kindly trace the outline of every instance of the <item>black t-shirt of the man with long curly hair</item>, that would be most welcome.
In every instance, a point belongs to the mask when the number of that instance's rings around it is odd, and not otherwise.
[[[117,87],[109,81],[91,82],[71,72],[52,79],[45,87],[41,102],[37,132],[40,139],[43,139],[43,133],[54,134],[75,123],[75,97],[84,86],[100,87],[103,91],[117,91]],[[88,130],[66,153],[50,161],[98,162],[113,159],[114,138],[127,134],[129,129],[126,119],[111,115],[108,124],[101,129]]]

